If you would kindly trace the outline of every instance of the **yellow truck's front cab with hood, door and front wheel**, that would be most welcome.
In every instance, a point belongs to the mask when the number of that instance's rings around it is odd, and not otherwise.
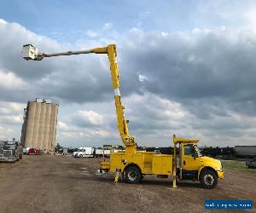
[[[201,181],[202,187],[213,188],[218,184],[218,178],[224,177],[220,161],[202,156],[197,142],[179,143],[179,150],[177,164],[179,180]]]

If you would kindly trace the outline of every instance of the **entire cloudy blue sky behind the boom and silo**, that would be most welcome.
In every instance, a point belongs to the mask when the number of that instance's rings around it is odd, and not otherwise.
[[[2,1],[0,139],[20,139],[27,101],[60,105],[56,142],[121,144],[106,55],[26,61],[116,43],[120,92],[139,146],[255,145],[255,1]]]

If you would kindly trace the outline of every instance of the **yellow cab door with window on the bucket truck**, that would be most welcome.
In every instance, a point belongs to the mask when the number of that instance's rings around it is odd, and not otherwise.
[[[183,144],[182,146],[182,169],[199,170],[201,166],[200,157],[198,157],[193,144]]]

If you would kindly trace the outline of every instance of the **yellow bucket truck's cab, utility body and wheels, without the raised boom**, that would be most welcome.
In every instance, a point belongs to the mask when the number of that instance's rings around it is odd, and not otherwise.
[[[116,172],[117,176],[121,173],[128,183],[138,183],[143,176],[156,175],[171,176],[173,187],[177,180],[200,181],[202,187],[216,187],[218,178],[224,177],[222,165],[217,159],[203,157],[197,143],[198,140],[174,135],[173,155],[143,151],[111,153],[109,160],[102,161],[101,170]]]

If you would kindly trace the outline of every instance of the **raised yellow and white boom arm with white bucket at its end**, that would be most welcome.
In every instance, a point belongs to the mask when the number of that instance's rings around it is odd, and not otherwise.
[[[109,44],[107,47],[96,49],[85,49],[79,51],[67,51],[62,53],[45,54],[38,52],[32,44],[23,46],[22,55],[26,60],[43,60],[44,58],[60,56],[60,55],[80,55],[80,54],[107,54],[112,78],[112,87],[114,92],[114,102],[116,107],[117,125],[119,134],[123,143],[125,144],[126,153],[136,153],[137,144],[134,136],[129,135],[128,120],[125,118],[124,109],[121,103],[121,96],[119,92],[119,66],[116,60],[117,50],[115,44]]]

